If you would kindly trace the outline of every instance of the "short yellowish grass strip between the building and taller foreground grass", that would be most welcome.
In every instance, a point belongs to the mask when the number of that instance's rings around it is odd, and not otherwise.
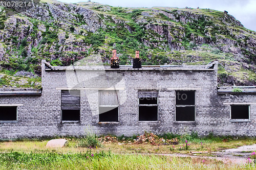
[[[86,142],[88,145],[85,145],[87,148],[96,148],[93,149],[95,151],[104,151],[108,152],[109,149],[111,152],[116,154],[124,154],[124,153],[182,153],[186,154],[190,151],[208,151],[208,152],[215,152],[223,149],[231,149],[231,148],[237,148],[241,147],[242,145],[251,145],[256,143],[256,138],[235,138],[230,136],[214,136],[212,134],[209,134],[206,137],[198,137],[197,133],[194,132],[192,134],[184,134],[184,135],[175,135],[172,133],[165,133],[162,135],[158,135],[158,138],[163,139],[172,139],[177,137],[179,140],[179,143],[175,146],[175,149],[170,152],[170,148],[173,147],[173,144],[170,145],[161,145],[160,142],[157,144],[160,145],[151,145],[150,142],[142,143],[142,144],[130,144],[133,143],[133,139],[135,139],[137,135],[134,135],[133,137],[127,137],[127,136],[119,136],[117,137],[120,143],[124,143],[122,145],[119,145],[118,143],[106,143],[102,145],[102,148],[100,145],[93,145],[95,144],[95,136],[89,135],[88,138],[93,138],[93,140],[90,140],[90,142]],[[77,152],[84,152],[87,150],[87,148],[81,148],[79,147],[79,143],[81,138],[67,138],[69,140],[69,146],[65,148],[60,149],[54,149],[55,152],[60,153],[77,153]],[[85,137],[86,139],[86,137]],[[124,139],[124,140],[123,140]],[[49,148],[46,148],[46,143],[50,139],[40,139],[40,140],[16,140],[16,141],[2,141],[0,142],[0,152],[5,151],[17,151],[17,152],[51,152],[52,150]],[[185,140],[188,141],[189,149],[188,150],[180,150],[180,147],[183,148],[183,144],[185,143]],[[202,142],[202,145],[201,145]],[[96,142],[97,143],[97,142]],[[84,141],[82,142],[84,144]],[[203,146],[203,147],[202,147]],[[210,153],[209,153],[210,154]]]

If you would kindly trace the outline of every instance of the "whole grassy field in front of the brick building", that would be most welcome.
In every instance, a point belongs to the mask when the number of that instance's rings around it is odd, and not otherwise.
[[[215,157],[165,155],[207,151],[198,156],[214,156],[212,152],[218,150],[254,144],[255,138],[199,138],[184,135],[179,136],[177,145],[151,145],[149,142],[129,144],[133,142],[132,138],[124,137],[124,140],[120,138],[119,142],[105,143],[102,148],[94,149],[78,147],[77,138],[67,139],[67,147],[54,149],[46,148],[50,139],[1,141],[0,169],[255,169],[253,160],[250,164],[235,165]],[[188,148],[185,148],[186,140]]]

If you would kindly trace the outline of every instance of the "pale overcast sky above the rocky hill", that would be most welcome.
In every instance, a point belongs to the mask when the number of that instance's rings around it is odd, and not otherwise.
[[[178,7],[178,8],[210,8],[228,11],[245,28],[256,31],[256,0],[91,0],[114,7]],[[82,0],[61,0],[65,3],[87,2]]]

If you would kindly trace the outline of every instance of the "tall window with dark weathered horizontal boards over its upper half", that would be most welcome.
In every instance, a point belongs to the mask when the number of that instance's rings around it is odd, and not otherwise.
[[[80,90],[61,90],[61,119],[80,120]]]

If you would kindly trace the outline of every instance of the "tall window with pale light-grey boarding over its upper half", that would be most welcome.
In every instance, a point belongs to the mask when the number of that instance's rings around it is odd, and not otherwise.
[[[118,90],[99,90],[99,122],[118,122]]]

